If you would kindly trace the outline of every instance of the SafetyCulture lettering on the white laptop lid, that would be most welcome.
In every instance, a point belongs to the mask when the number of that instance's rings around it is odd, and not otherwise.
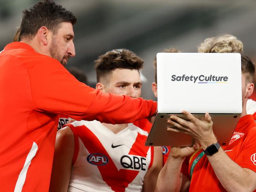
[[[196,83],[196,82],[197,83],[227,83],[228,77],[227,76],[215,76],[215,75],[186,76],[185,74],[183,74],[182,76],[172,75],[171,80],[172,81],[192,81],[194,83]]]

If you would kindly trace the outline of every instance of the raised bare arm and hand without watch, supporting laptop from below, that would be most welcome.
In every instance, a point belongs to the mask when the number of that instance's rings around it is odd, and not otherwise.
[[[155,192],[187,191],[190,180],[181,173],[181,166],[185,158],[199,148],[198,144],[192,147],[172,147],[167,162],[157,178]]]

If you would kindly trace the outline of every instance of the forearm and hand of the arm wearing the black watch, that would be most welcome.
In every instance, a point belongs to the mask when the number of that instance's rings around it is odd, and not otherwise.
[[[187,111],[184,111],[183,114],[187,116],[189,121],[171,116],[171,120],[168,120],[168,122],[178,129],[168,128],[169,130],[175,132],[182,131],[191,135],[198,140],[204,150],[209,145],[217,143],[217,139],[212,130],[213,122],[209,114],[205,115],[204,121],[197,119]],[[248,145],[247,148],[250,147],[250,151],[255,151],[256,140],[251,140],[251,143],[252,145]],[[247,157],[247,159],[250,158],[250,156],[248,157],[249,154],[247,151],[241,151],[241,153],[243,153],[243,157]],[[227,191],[253,191],[256,189],[256,172],[239,166],[228,157],[221,147],[217,153],[212,156],[207,156],[207,158],[220,183]],[[253,166],[251,166],[251,168],[252,167]],[[254,170],[256,169],[254,168]]]

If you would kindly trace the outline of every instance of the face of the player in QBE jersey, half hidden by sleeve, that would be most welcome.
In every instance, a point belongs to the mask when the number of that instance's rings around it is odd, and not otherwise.
[[[138,98],[141,94],[141,86],[142,82],[138,70],[115,69],[110,75],[109,83],[103,88],[103,91]]]

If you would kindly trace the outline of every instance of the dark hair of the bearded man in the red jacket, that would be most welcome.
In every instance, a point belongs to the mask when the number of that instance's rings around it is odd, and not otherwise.
[[[23,11],[19,39],[23,37],[32,39],[41,26],[47,27],[55,34],[62,22],[71,22],[74,25],[77,18],[73,13],[51,0],[40,1]]]

